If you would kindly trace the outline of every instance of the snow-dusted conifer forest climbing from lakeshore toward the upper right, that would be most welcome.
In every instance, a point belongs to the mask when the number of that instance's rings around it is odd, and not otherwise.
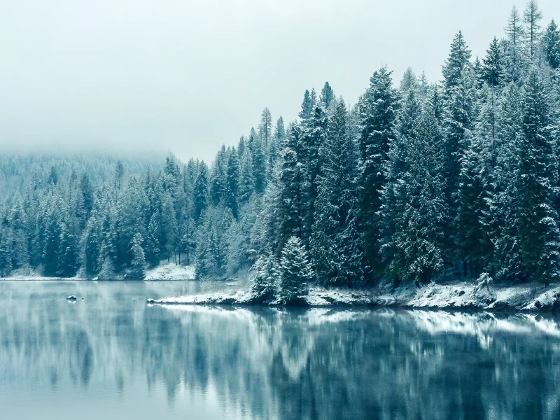
[[[3,198],[1,274],[142,278],[170,259],[224,279],[258,262],[255,293],[281,279],[286,301],[313,280],[556,280],[560,31],[536,1],[504,21],[480,59],[458,31],[437,83],[381,67],[352,109],[328,83],[293,123],[265,109],[210,166],[43,172]]]

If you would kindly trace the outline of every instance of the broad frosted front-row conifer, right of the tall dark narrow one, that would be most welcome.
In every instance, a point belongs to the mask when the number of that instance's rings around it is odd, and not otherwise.
[[[406,153],[391,150],[389,170],[395,178],[392,176],[384,189],[381,213],[390,226],[385,229],[382,250],[390,256],[387,273],[395,284],[412,279],[416,284],[430,281],[444,267],[443,232],[448,212],[440,139],[430,104],[414,118],[412,131],[403,139]]]

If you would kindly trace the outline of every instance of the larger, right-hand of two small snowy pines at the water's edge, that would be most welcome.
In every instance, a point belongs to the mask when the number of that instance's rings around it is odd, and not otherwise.
[[[315,273],[309,262],[307,250],[298,237],[290,237],[282,248],[280,271],[280,302],[301,303],[307,293],[307,284],[314,279]]]

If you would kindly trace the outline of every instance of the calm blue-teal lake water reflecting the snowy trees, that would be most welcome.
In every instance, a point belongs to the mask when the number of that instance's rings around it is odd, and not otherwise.
[[[0,418],[560,418],[556,318],[146,305],[180,285],[0,281]]]

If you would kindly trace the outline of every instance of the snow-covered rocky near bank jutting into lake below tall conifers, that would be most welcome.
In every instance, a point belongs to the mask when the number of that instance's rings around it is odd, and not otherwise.
[[[250,295],[243,290],[203,295],[184,295],[153,300],[155,304],[248,305]],[[277,302],[269,302],[276,306]],[[391,288],[309,288],[303,304],[309,307],[404,307],[416,309],[484,309],[514,311],[560,311],[560,283],[545,287],[540,283],[477,288],[475,282],[456,281]]]

